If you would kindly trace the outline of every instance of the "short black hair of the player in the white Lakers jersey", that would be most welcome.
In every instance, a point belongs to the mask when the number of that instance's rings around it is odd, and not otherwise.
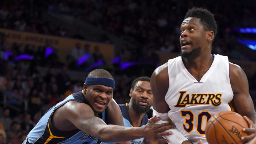
[[[217,22],[214,19],[214,15],[208,11],[207,9],[203,9],[202,7],[193,7],[192,9],[188,10],[184,19],[188,17],[197,17],[200,18],[201,23],[203,24],[204,28],[209,31],[213,31],[214,37],[217,34]]]

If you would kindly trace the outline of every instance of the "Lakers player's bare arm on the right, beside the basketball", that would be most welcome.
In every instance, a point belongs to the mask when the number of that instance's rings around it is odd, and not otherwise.
[[[246,116],[251,119],[252,123],[255,125],[256,112],[249,94],[248,80],[244,71],[238,65],[229,63],[229,75],[231,87],[234,93],[232,103],[235,106],[236,111],[242,116]],[[242,142],[245,143],[247,140],[251,140],[255,136],[256,133],[242,137],[241,139]]]

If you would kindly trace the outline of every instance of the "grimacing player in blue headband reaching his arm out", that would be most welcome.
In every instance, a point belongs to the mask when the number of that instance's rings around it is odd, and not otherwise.
[[[98,139],[128,143],[143,137],[167,142],[161,136],[172,134],[164,132],[172,126],[170,123],[155,124],[159,118],[149,119],[145,127],[124,127],[120,108],[112,101],[114,87],[115,82],[108,71],[91,71],[83,90],[50,108],[23,144],[96,144]]]

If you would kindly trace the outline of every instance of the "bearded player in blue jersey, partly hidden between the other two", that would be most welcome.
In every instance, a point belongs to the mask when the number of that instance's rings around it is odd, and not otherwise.
[[[130,102],[118,105],[123,115],[124,126],[143,127],[148,122],[146,112],[153,104],[153,95],[150,88],[149,77],[139,77],[132,82],[130,89]],[[130,140],[131,144],[140,144],[144,138]],[[114,144],[114,143],[103,143]]]

